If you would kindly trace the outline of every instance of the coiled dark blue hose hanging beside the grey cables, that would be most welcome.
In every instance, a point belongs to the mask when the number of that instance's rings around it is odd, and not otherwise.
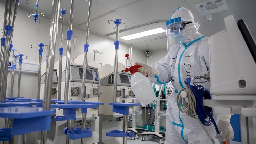
[[[195,86],[190,85],[190,88],[196,98],[196,114],[198,115],[198,119],[205,126],[209,126],[212,123],[215,127],[216,133],[220,134],[216,122],[212,118],[212,108],[203,105],[203,99],[211,99],[209,91],[200,84],[197,84]],[[208,118],[209,120],[206,120]]]

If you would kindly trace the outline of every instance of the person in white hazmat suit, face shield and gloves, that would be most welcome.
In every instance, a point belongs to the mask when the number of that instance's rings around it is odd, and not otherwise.
[[[199,122],[195,118],[181,113],[176,103],[177,94],[179,90],[184,88],[183,81],[186,78],[209,74],[208,38],[198,32],[199,26],[198,23],[195,23],[190,10],[179,7],[172,13],[170,20],[166,22],[169,49],[166,56],[159,60],[155,66],[135,63],[142,66],[138,71],[142,74],[147,73],[152,83],[160,85],[171,82],[175,88],[175,92],[170,95],[167,103],[165,141],[167,144],[211,143]],[[204,80],[197,79],[198,81]],[[209,89],[209,82],[201,83],[201,85]],[[218,123],[218,129],[222,132],[221,138],[222,140],[225,139],[228,144],[234,137],[230,117],[231,115],[213,114],[216,124]],[[207,126],[206,129],[213,141],[219,143],[213,124]]]

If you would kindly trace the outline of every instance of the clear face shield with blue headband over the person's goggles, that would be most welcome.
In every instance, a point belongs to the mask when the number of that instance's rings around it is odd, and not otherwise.
[[[166,22],[167,49],[169,50],[174,44],[181,45],[186,39],[180,32],[184,30],[185,25],[192,22],[184,23],[181,17],[170,19]]]

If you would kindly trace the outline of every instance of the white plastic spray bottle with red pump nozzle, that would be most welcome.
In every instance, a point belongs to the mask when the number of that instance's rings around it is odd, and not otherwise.
[[[134,65],[130,68],[125,68],[122,72],[131,72],[131,89],[141,105],[146,107],[146,105],[152,102],[154,103],[157,98],[149,79],[146,78],[148,77],[148,74],[145,77],[143,74],[138,72],[138,68],[140,67],[140,65]]]

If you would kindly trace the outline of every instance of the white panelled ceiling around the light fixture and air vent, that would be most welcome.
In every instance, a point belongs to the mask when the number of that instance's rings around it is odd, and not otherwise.
[[[0,0],[4,2],[4,0]],[[225,29],[223,18],[228,15],[233,15],[235,20],[244,19],[247,23],[253,36],[256,36],[256,1],[255,0],[226,0],[228,10],[213,13],[213,18],[209,22],[205,16],[201,16],[195,9],[194,4],[204,2],[206,0],[93,0],[91,20],[90,20],[90,32],[98,34],[110,39],[115,40],[115,35],[107,34],[114,33],[115,29],[112,29],[114,23],[108,24],[108,20],[124,19],[124,23],[128,25],[127,28],[142,25],[145,23],[168,20],[170,15],[178,7],[183,6],[191,10],[194,15],[195,22],[199,22],[199,32],[204,36],[210,37],[211,35]],[[30,12],[31,9],[35,9],[36,0],[29,0],[28,4],[25,4],[21,0],[19,6],[20,9]],[[52,3],[50,0],[39,0],[38,13],[45,13],[46,18],[50,18]],[[61,0],[60,8],[67,9],[65,15],[65,24],[69,23],[71,0]],[[81,30],[85,30],[87,26],[89,2],[86,0],[75,0],[74,2],[74,14],[73,14],[73,26]],[[61,20],[61,19],[60,19]],[[31,19],[32,21],[32,19]],[[154,23],[150,25],[141,26],[132,30],[119,33],[121,36],[126,36],[145,30],[163,27],[165,28],[165,22]],[[119,30],[126,29],[124,25],[119,26]],[[141,50],[161,50],[167,48],[167,42],[165,33],[146,36],[133,40],[119,39],[127,45],[132,45]]]

